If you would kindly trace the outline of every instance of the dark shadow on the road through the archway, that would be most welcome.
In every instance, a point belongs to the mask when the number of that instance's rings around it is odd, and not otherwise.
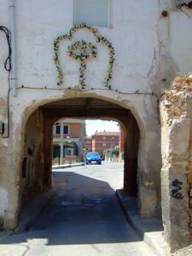
[[[46,245],[141,241],[108,183],[76,172],[53,172],[55,196],[27,233],[1,244],[44,240]]]

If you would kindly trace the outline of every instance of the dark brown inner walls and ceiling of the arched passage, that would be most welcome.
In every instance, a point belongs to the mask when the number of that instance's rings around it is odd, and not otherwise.
[[[58,119],[112,119],[125,131],[124,189],[137,197],[137,156],[140,131],[129,109],[92,97],[50,102],[36,109],[26,122],[20,179],[20,203],[51,187],[52,127]]]

